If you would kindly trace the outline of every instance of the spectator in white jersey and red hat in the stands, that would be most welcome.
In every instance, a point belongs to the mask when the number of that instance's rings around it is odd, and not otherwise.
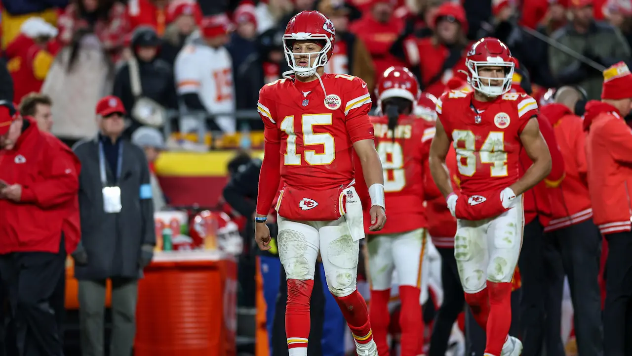
[[[175,76],[178,94],[186,110],[212,118],[211,130],[235,132],[233,61],[224,47],[230,22],[227,16],[202,19],[200,30],[191,34],[188,44],[176,57]],[[184,116],[182,132],[199,131],[198,120]]]

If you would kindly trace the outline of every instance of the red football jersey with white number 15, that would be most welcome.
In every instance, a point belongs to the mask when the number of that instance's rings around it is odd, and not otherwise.
[[[281,180],[296,189],[329,189],[353,181],[353,143],[373,139],[371,96],[364,80],[325,74],[279,79],[259,92],[265,142],[281,144]]]

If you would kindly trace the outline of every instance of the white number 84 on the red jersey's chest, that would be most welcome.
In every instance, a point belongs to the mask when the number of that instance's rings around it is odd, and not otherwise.
[[[492,165],[490,167],[491,177],[506,177],[507,153],[504,151],[504,132],[489,132],[485,142],[483,142],[483,145],[478,151],[476,149],[476,137],[470,130],[453,130],[452,139],[456,151],[456,165],[461,175],[471,177],[476,173],[476,153],[478,152],[480,163]],[[465,147],[459,147],[459,143],[461,142]]]

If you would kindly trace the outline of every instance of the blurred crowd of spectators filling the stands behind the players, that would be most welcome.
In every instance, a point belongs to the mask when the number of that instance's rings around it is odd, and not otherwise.
[[[630,59],[628,0],[8,0],[2,54],[13,101],[49,96],[52,133],[68,144],[95,134],[94,107],[114,94],[128,137],[150,125],[174,148],[257,146],[258,90],[288,69],[289,18],[312,9],[336,27],[326,71],[371,89],[392,65],[437,97],[465,87],[465,54],[488,35],[509,46],[536,99],[561,85],[597,99],[601,71]]]

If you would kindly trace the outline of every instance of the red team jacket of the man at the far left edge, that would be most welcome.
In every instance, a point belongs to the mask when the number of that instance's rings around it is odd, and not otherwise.
[[[78,189],[81,163],[59,139],[28,128],[15,148],[0,150],[0,179],[22,186],[21,201],[0,199],[0,254],[25,251],[57,253],[61,232],[66,251],[79,243]]]

